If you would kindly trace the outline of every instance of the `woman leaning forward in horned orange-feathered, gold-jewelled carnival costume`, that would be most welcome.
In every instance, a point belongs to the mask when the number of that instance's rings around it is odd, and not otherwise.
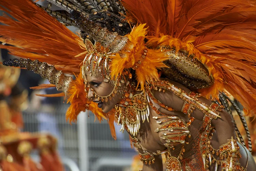
[[[68,98],[70,122],[91,110],[109,120],[115,138],[116,120],[143,171],[162,170],[161,154],[167,171],[255,170],[232,115],[208,100],[226,90],[255,113],[255,2],[47,1],[66,12],[0,0],[17,20],[0,18],[7,25],[0,41],[14,45],[3,47],[32,59],[3,64],[33,70],[63,91],[51,96]],[[80,28],[82,40],[42,9]],[[76,80],[63,74],[71,72],[80,73]]]

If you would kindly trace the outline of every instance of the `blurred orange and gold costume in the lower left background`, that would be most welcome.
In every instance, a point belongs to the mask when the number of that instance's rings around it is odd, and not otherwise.
[[[1,66],[0,96],[9,90],[19,77],[17,68]],[[13,89],[12,89],[13,90]],[[23,127],[22,110],[27,106],[27,91],[12,98],[10,105],[0,100],[0,170],[1,171],[63,171],[56,151],[57,141],[48,134],[20,132]],[[39,150],[41,161],[37,163],[29,156],[33,149]]]

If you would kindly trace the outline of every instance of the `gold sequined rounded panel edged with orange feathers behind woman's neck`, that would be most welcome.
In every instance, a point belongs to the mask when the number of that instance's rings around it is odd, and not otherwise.
[[[175,49],[163,48],[169,59],[164,63],[170,68],[164,68],[163,74],[168,79],[179,82],[190,89],[207,88],[214,83],[213,76],[209,73],[206,65],[188,52]]]

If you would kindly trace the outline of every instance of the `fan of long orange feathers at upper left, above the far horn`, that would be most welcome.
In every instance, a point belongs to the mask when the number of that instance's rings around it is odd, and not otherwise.
[[[12,46],[3,46],[11,54],[22,58],[38,59],[62,67],[63,72],[79,73],[79,65],[86,49],[82,40],[69,29],[49,16],[32,1],[0,0],[0,9],[12,17],[1,16],[0,41]],[[3,7],[4,6],[4,7]],[[45,24],[47,23],[47,24]]]

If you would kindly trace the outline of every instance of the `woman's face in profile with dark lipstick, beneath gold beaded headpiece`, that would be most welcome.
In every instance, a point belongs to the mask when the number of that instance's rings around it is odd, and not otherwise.
[[[90,88],[94,89],[94,92],[99,95],[99,96],[108,96],[111,94],[112,90],[114,87],[111,85],[110,82],[104,82],[103,78],[101,76],[94,77],[94,76],[89,76],[86,75],[86,80],[88,81]],[[120,87],[124,88],[124,87]],[[98,107],[102,109],[104,113],[108,113],[111,109],[113,109],[118,102],[119,97],[122,97],[121,94],[115,94],[115,97],[112,97],[112,99],[108,99],[106,102],[105,99],[103,102],[101,102],[101,98],[98,99],[97,97],[93,95],[93,92],[89,89],[88,92],[88,98],[92,99],[93,102],[98,103]]]

